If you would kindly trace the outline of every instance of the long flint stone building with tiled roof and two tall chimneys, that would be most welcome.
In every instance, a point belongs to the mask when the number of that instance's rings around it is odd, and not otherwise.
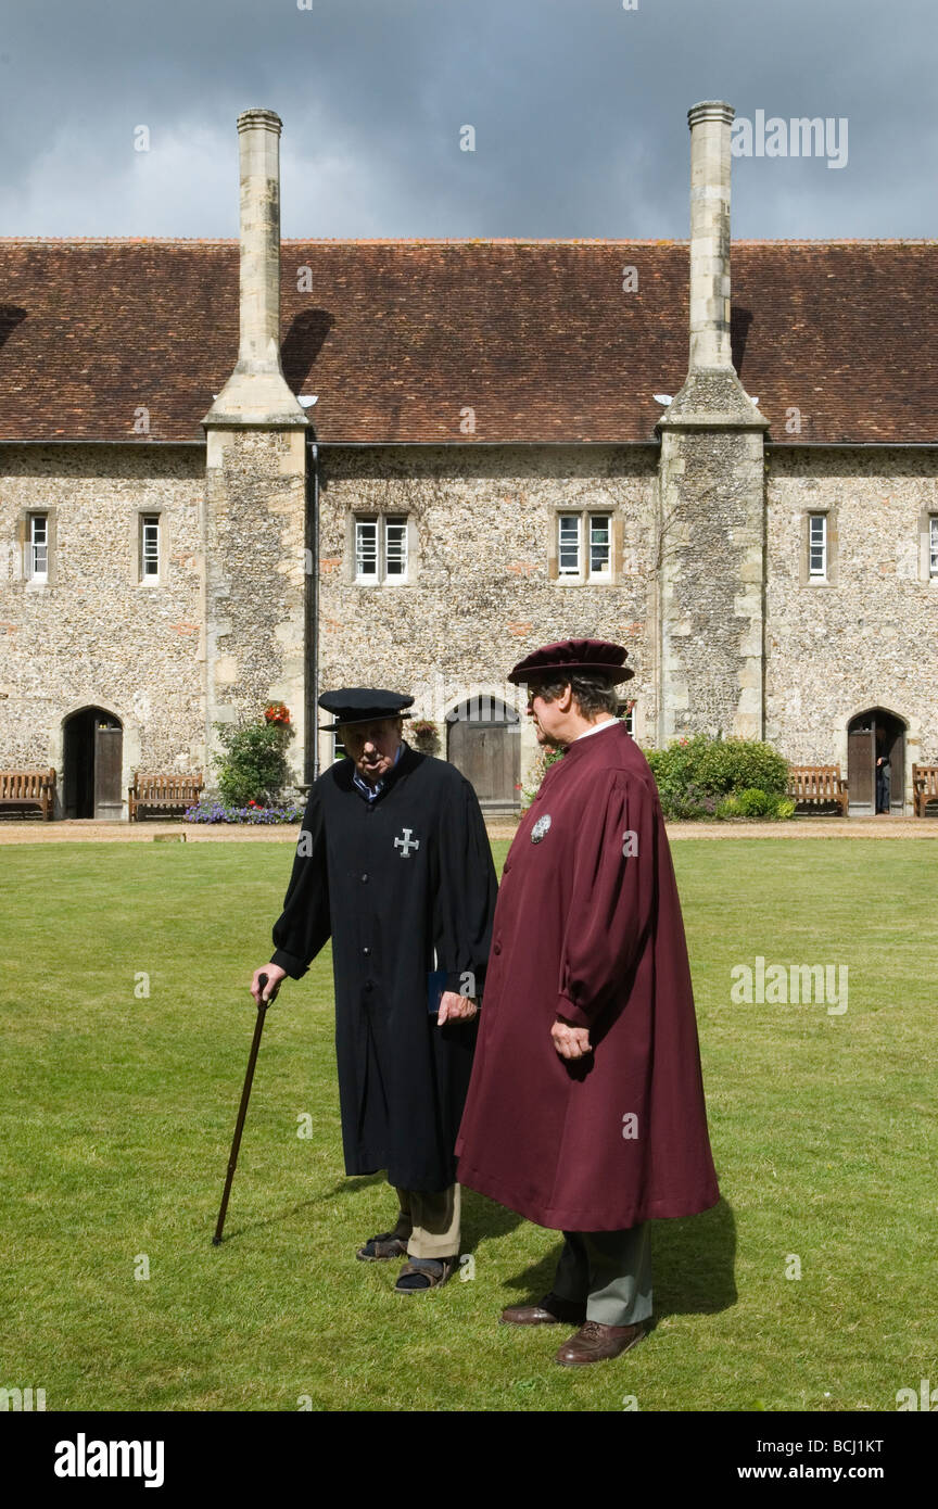
[[[216,721],[277,700],[311,780],[318,693],[377,684],[511,806],[508,668],[600,635],[639,742],[768,738],[864,812],[879,736],[911,810],[938,246],[737,241],[730,294],[731,119],[689,112],[689,246],[280,241],[267,110],[240,247],[0,240],[0,768],[119,818],[134,770],[211,777]]]

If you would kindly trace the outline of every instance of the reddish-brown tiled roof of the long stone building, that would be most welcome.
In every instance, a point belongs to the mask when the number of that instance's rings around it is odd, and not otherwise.
[[[771,441],[938,442],[936,241],[734,241],[731,272]],[[2,441],[202,439],[237,241],[6,237],[0,279]],[[282,338],[326,444],[648,441],[686,374],[688,243],[288,240]]]

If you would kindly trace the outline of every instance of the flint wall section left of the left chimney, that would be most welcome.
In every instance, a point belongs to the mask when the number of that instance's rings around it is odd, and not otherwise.
[[[0,751],[62,770],[62,720],[97,705],[139,768],[204,759],[205,453],[173,445],[0,447]],[[48,585],[24,579],[26,512],[54,519]],[[160,512],[163,576],[143,585],[137,516]]]

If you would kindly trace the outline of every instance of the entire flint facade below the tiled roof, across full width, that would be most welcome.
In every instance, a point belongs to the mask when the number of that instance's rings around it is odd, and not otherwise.
[[[291,708],[291,764],[303,779],[303,708],[314,691],[303,684],[303,436],[213,433],[208,465],[201,447],[0,448],[5,767],[60,771],[63,718],[95,705],[124,724],[124,788],[133,768],[202,768],[211,783],[207,726],[253,717],[274,699]],[[670,717],[680,717],[682,699],[694,720],[724,717],[740,705],[745,687],[731,672],[751,656],[751,595],[763,590],[760,573],[753,578],[749,512],[760,439],[742,439],[667,436],[661,490],[653,445],[324,447],[318,688],[400,687],[416,696],[415,714],[437,723],[464,697],[499,697],[522,715],[526,783],[537,745],[507,670],[549,640],[603,637],[629,647],[636,676],[623,690],[638,699],[636,735],[650,745],[664,715],[662,552],[668,570],[679,567],[665,604],[665,647],[682,646],[679,662],[665,665]],[[688,466],[697,474],[688,477]],[[846,773],[849,720],[885,708],[908,727],[908,795],[911,764],[938,762],[938,581],[924,548],[927,516],[938,512],[938,450],[769,447],[765,486],[765,736],[793,762],[840,762]],[[733,489],[742,489],[739,519]],[[685,539],[686,509],[682,519],[673,504],[689,495]],[[612,584],[556,578],[562,509],[614,516]],[[48,585],[23,575],[18,542],[30,510],[54,521]],[[140,512],[163,518],[157,587],[139,582]],[[811,512],[829,521],[831,582],[820,587],[807,584]],[[356,513],[409,516],[406,585],[353,581]],[[713,647],[728,681],[713,681]],[[327,735],[320,756],[330,758]]]

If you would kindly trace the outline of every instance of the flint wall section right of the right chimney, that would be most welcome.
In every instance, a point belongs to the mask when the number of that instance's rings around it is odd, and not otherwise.
[[[840,762],[846,726],[884,708],[912,762],[938,761],[938,579],[927,513],[938,451],[787,450],[768,460],[766,738],[796,764]],[[807,516],[828,510],[834,581],[807,585]]]

